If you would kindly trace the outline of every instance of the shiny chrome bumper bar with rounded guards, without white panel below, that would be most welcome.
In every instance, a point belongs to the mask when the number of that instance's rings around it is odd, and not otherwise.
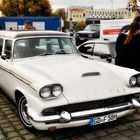
[[[50,115],[50,116],[39,116],[33,110],[28,108],[28,115],[29,118],[36,123],[37,122],[46,123],[46,124],[53,123],[53,122],[68,123],[76,118],[92,116],[100,113],[107,114],[111,112],[127,111],[130,109],[137,109],[139,107],[140,107],[140,102],[137,99],[132,99],[130,102],[117,104],[105,108],[91,109],[91,110],[79,111],[79,112],[67,112],[63,110],[59,115]]]

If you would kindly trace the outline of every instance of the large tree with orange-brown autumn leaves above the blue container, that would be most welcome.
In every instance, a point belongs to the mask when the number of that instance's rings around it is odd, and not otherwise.
[[[2,0],[0,10],[5,16],[50,16],[49,0]]]

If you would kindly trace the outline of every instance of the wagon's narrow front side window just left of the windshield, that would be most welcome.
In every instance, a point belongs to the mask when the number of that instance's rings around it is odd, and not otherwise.
[[[11,40],[5,41],[5,54],[6,54],[7,59],[11,58],[11,54],[12,54],[12,41]]]

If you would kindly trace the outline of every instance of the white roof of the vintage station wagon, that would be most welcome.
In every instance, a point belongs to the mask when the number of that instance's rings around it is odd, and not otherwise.
[[[33,36],[69,36],[60,31],[0,31],[1,37],[6,38],[20,38]]]

